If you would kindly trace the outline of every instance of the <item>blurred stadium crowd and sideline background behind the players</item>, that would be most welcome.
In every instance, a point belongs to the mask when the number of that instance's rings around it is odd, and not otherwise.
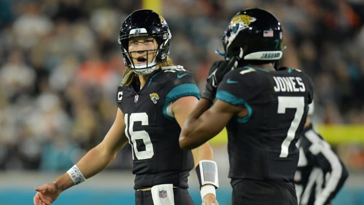
[[[204,87],[238,10],[260,7],[284,27],[283,66],[315,84],[317,129],[349,169],[333,204],[364,204],[364,3],[299,0],[0,0],[0,204],[32,204],[51,182],[100,142],[116,111],[124,65],[119,28],[133,10],[167,20],[175,64]],[[211,141],[221,205],[230,204],[226,136]],[[133,204],[130,148],[110,168],[65,191],[54,204]],[[244,166],[244,165],[242,165]],[[190,192],[200,203],[194,171]]]

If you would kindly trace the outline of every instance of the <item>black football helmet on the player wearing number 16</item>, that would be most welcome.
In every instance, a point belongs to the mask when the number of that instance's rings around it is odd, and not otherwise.
[[[156,52],[151,62],[148,62],[147,59],[147,63],[134,65],[131,58],[132,52],[128,51],[128,42],[129,38],[138,36],[154,37],[158,48],[145,51]],[[146,75],[152,73],[156,69],[156,65],[167,60],[169,55],[169,40],[171,37],[172,35],[167,22],[159,14],[145,9],[132,12],[122,24],[118,38],[125,66],[132,69],[136,74]]]

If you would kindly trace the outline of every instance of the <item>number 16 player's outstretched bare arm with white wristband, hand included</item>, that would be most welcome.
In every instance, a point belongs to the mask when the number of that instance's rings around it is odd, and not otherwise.
[[[51,204],[62,191],[83,182],[106,169],[115,159],[116,153],[127,143],[124,133],[124,114],[118,109],[114,124],[104,140],[89,150],[67,173],[52,183],[36,187],[33,202],[35,205]]]

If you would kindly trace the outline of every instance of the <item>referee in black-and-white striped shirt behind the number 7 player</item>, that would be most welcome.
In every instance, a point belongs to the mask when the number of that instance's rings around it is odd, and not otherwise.
[[[298,204],[331,204],[344,185],[348,171],[330,145],[313,129],[308,117],[312,113],[313,102],[296,144],[300,151],[294,178]]]

